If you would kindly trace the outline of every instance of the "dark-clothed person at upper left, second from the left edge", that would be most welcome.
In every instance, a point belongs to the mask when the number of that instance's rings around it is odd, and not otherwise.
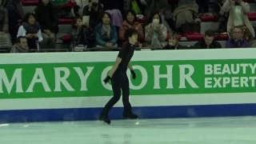
[[[16,42],[18,27],[25,15],[22,10],[22,4],[20,0],[4,0],[2,6],[4,6],[8,12],[9,33],[11,42],[14,44]]]

